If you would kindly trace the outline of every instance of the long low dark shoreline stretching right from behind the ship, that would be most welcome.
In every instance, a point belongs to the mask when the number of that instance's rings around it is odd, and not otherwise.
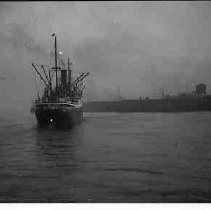
[[[91,101],[85,112],[195,112],[211,111],[211,97]]]

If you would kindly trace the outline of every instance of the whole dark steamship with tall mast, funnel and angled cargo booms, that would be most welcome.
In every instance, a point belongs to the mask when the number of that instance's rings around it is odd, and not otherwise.
[[[44,85],[43,94],[33,101],[31,113],[34,113],[39,127],[72,127],[83,119],[83,80],[90,74],[80,72],[76,78],[72,76],[73,62],[68,57],[67,65],[58,65],[57,36],[54,37],[53,67],[32,63],[38,78]]]

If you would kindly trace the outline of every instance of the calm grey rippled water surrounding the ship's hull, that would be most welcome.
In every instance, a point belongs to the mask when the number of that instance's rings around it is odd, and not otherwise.
[[[1,202],[210,202],[211,112],[0,118]]]

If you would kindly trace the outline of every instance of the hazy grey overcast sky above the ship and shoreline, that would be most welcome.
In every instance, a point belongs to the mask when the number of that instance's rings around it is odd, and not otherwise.
[[[86,100],[211,93],[211,2],[0,2],[0,109],[29,109],[31,63],[63,58],[91,72]]]

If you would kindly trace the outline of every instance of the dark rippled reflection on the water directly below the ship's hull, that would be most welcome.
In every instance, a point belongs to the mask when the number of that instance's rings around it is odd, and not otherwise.
[[[36,130],[36,145],[40,156],[45,160],[46,167],[58,170],[77,169],[74,159],[77,147],[80,146],[79,129],[40,129]],[[80,129],[81,130],[81,129]]]

